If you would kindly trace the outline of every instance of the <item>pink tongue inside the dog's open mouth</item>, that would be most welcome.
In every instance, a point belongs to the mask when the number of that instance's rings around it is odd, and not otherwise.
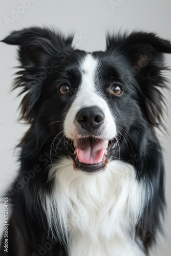
[[[78,140],[75,149],[75,154],[80,162],[86,164],[99,163],[104,154],[106,153],[106,143],[105,140],[92,141],[88,140]]]

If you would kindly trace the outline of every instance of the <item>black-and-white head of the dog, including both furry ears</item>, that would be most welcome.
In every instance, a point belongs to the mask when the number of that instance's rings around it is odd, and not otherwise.
[[[162,53],[171,53],[171,45],[133,32],[108,36],[106,51],[87,53],[74,50],[72,39],[35,27],[3,41],[19,45],[14,87],[25,93],[21,118],[39,137],[36,149],[57,141],[60,156],[91,173],[116,156],[123,138],[129,143],[134,132],[161,124]]]

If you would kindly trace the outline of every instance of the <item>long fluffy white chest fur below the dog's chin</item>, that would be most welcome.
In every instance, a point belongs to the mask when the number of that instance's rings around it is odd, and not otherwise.
[[[111,161],[104,172],[87,175],[62,159],[50,176],[56,185],[46,214],[50,228],[56,223],[68,234],[69,256],[144,255],[133,242],[144,189],[130,164]]]

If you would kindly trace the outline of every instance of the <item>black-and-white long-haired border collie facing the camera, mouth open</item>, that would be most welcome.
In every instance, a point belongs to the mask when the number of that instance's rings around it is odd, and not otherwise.
[[[31,27],[2,41],[19,46],[13,89],[30,126],[1,255],[148,255],[165,210],[156,127],[169,40],[108,35],[105,51],[89,53],[73,35]]]

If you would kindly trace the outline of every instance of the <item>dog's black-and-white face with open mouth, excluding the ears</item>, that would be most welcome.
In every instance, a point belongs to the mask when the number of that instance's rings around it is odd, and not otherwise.
[[[121,132],[142,116],[129,62],[116,53],[73,51],[59,66],[46,82],[45,98],[52,88],[46,109],[51,104],[50,117],[55,129],[61,126],[74,168],[97,172],[112,158]]]

